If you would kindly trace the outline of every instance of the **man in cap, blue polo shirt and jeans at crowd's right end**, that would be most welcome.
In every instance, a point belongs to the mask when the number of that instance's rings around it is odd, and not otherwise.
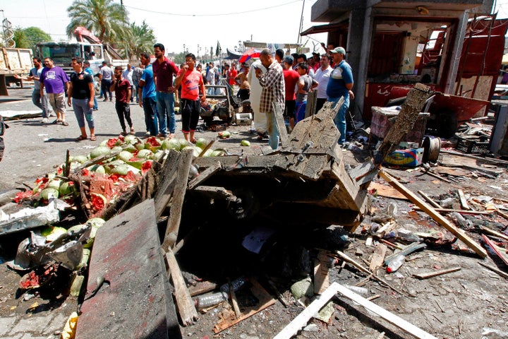
[[[353,72],[351,66],[344,60],[346,50],[343,47],[336,47],[330,50],[329,54],[333,58],[335,67],[327,85],[328,101],[337,104],[340,98],[344,97],[344,105],[334,118],[335,126],[341,133],[339,144],[342,145],[346,141],[346,112],[349,108],[349,91],[353,88]]]

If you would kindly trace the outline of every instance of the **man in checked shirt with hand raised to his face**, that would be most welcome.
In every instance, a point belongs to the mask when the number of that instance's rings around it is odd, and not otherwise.
[[[256,77],[262,87],[260,99],[260,112],[267,114],[268,136],[270,147],[276,150],[279,147],[279,130],[272,102],[279,102],[284,112],[284,73],[282,66],[272,57],[270,49],[263,49],[260,53],[260,61],[267,69],[265,74],[261,69],[255,69]]]

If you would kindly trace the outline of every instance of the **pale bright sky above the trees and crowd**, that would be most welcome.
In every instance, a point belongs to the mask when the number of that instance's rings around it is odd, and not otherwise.
[[[120,0],[114,0],[120,3]],[[300,32],[312,25],[310,11],[317,0],[210,1],[192,0],[186,4],[162,0],[123,0],[131,22],[143,20],[166,47],[166,52],[183,52],[183,45],[197,56],[215,49],[219,41],[222,51],[238,47],[238,41],[295,43]],[[72,0],[2,1],[0,10],[13,28],[35,26],[52,35],[55,41],[67,41],[69,23],[67,8]],[[497,0],[498,18],[508,18],[508,0]],[[164,5],[162,5],[164,4]],[[174,6],[174,4],[181,4]],[[221,4],[219,6],[219,4]],[[224,6],[226,4],[226,6]],[[2,18],[2,20],[3,20]],[[313,51],[326,42],[326,33],[301,37]],[[199,45],[199,50],[198,50]],[[322,52],[322,51],[321,51]]]

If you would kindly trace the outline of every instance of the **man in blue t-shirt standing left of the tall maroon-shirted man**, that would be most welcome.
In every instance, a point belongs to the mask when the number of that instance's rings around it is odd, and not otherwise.
[[[145,66],[145,71],[141,76],[139,87],[139,105],[145,112],[145,125],[147,134],[157,136],[157,93],[155,92],[155,82],[153,78],[152,64],[150,64],[150,54],[141,53],[141,64]]]

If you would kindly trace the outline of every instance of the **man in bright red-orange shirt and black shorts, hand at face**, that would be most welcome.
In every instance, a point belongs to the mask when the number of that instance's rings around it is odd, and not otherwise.
[[[175,79],[175,87],[181,85],[181,121],[183,137],[186,141],[195,143],[194,133],[198,126],[201,102],[205,102],[205,83],[203,83],[201,72],[194,69],[195,55],[186,55],[186,64],[182,66],[179,75]]]

